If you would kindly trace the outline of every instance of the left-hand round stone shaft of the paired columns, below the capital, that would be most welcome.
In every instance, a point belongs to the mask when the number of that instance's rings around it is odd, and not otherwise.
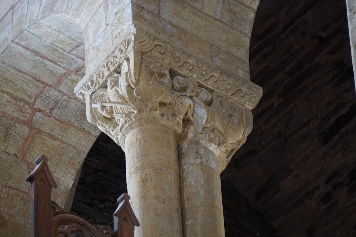
[[[181,237],[177,140],[165,126],[146,124],[125,139],[127,190],[140,226],[135,237]]]

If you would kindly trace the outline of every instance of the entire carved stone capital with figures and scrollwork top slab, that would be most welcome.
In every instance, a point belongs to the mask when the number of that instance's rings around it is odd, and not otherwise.
[[[198,142],[222,171],[252,129],[261,87],[201,63],[171,44],[137,31],[75,88],[89,122],[125,149],[129,131],[161,124],[181,145]]]

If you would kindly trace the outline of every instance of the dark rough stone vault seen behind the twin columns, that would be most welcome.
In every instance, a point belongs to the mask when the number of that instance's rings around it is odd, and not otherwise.
[[[264,95],[247,142],[221,174],[226,236],[356,235],[356,103],[342,0],[261,0],[251,81]],[[83,165],[72,212],[110,224],[126,192],[106,135]]]

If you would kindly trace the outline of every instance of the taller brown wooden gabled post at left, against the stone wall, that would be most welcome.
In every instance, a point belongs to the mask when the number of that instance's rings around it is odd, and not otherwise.
[[[31,191],[31,237],[52,236],[53,211],[51,209],[52,188],[57,188],[48,167],[48,157],[40,155],[36,168],[26,179]]]

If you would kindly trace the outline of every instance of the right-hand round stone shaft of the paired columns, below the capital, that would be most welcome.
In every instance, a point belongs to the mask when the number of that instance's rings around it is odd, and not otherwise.
[[[202,145],[178,147],[184,237],[224,237],[219,160]]]

